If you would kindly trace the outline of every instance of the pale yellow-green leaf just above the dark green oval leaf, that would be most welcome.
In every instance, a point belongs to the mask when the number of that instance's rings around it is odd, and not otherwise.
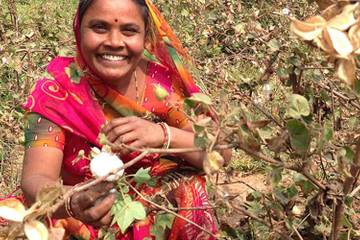
[[[308,100],[298,94],[291,95],[289,98],[287,114],[295,119],[300,119],[302,116],[309,116],[310,105]]]

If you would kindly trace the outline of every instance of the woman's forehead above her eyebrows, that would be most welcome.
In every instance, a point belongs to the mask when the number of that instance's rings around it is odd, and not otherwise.
[[[94,0],[86,10],[83,20],[100,19],[125,23],[144,23],[140,6],[133,0]]]

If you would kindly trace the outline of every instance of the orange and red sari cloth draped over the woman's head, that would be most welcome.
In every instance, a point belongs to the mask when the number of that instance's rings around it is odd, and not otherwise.
[[[200,92],[200,89],[196,86],[194,79],[189,73],[188,69],[183,64],[190,63],[190,57],[182,47],[181,42],[175,36],[169,24],[166,22],[164,17],[161,15],[160,11],[152,3],[151,0],[145,0],[146,5],[149,10],[150,15],[150,24],[149,27],[154,28],[150,29],[154,33],[154,39],[152,39],[151,49],[145,51],[145,56],[149,59],[152,59],[159,64],[169,68],[173,73],[178,75],[182,80],[187,94],[190,96],[193,93]],[[80,8],[74,19],[73,28],[76,38],[77,45],[77,61],[81,67],[85,67],[84,58],[80,51],[80,42],[81,42],[81,16]],[[151,24],[152,23],[152,24]],[[150,55],[149,55],[150,53]]]

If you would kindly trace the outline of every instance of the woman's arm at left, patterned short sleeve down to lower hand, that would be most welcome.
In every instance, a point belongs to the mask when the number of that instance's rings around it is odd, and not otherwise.
[[[32,113],[27,117],[25,142],[28,149],[25,151],[21,188],[26,199],[32,204],[44,187],[54,186],[59,182],[64,157],[62,149],[65,144],[65,132],[40,115]],[[48,132],[49,127],[53,129],[51,133]],[[55,135],[60,141],[54,141]],[[36,136],[40,136],[40,139]],[[43,146],[44,141],[48,147]],[[68,190],[72,186],[64,187]],[[112,187],[112,184],[102,183],[74,194],[70,199],[73,217],[94,226],[108,224],[111,220],[109,210],[115,200],[114,195],[109,194]],[[61,206],[54,217],[69,217],[65,206]]]

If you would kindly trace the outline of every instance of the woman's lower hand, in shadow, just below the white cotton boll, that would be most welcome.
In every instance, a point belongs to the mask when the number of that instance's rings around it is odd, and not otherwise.
[[[110,225],[110,210],[115,202],[115,194],[110,193],[113,188],[113,183],[100,183],[75,193],[70,200],[73,217],[94,227]]]

